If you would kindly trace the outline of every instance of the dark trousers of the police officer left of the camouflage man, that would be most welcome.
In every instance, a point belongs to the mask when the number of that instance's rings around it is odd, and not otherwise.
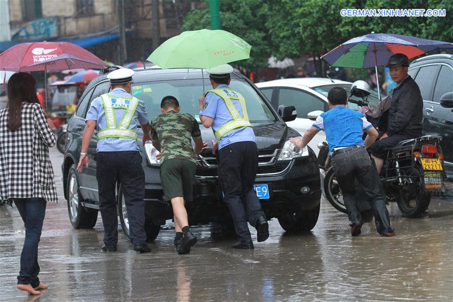
[[[134,245],[144,244],[145,233],[145,173],[138,151],[98,152],[96,178],[99,187],[99,210],[104,224],[104,244],[116,247],[118,218],[116,212],[116,183],[124,194],[129,237]]]

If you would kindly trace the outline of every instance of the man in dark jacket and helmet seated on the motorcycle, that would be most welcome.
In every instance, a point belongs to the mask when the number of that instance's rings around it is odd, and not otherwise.
[[[390,149],[422,135],[423,98],[417,83],[408,75],[409,58],[395,53],[386,67],[390,68],[390,77],[397,87],[392,94],[387,131],[369,148],[379,174]]]

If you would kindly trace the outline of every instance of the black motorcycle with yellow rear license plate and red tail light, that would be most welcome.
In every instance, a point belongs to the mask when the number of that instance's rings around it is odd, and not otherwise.
[[[367,105],[366,99],[356,102]],[[373,124],[373,123],[372,123]],[[419,217],[429,206],[431,196],[445,192],[442,137],[426,135],[400,142],[387,153],[380,182],[385,201],[396,202],[405,217]],[[318,144],[318,163],[323,178],[323,190],[329,203],[337,210],[347,213],[342,192],[332,167],[332,156],[326,142]],[[364,210],[369,210],[366,203]]]

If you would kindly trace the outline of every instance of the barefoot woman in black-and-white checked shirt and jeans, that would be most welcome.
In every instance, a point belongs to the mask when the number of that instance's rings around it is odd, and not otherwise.
[[[55,136],[36,97],[30,74],[14,74],[8,82],[8,105],[0,110],[0,200],[16,204],[25,223],[25,241],[17,288],[40,294],[38,243],[46,202],[57,202],[48,147]]]

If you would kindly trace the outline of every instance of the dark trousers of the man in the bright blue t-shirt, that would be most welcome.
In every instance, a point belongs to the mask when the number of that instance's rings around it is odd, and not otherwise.
[[[377,231],[380,234],[393,232],[393,228],[390,226],[389,211],[385,206],[380,187],[379,175],[366,149],[354,148],[334,155],[333,167],[338,185],[343,193],[349,220],[357,225],[363,224],[357,204],[364,203],[366,200],[356,200],[354,182],[357,180],[373,209]]]

